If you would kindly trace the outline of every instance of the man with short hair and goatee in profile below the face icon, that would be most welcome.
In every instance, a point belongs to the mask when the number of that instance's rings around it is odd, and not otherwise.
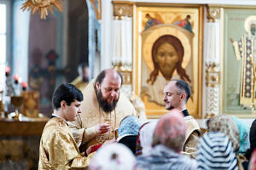
[[[196,156],[196,147],[201,136],[201,130],[198,122],[193,116],[189,115],[186,108],[187,101],[191,95],[189,84],[183,80],[172,80],[164,88],[164,101],[166,110],[178,109],[182,111],[184,121],[187,124],[186,138],[183,143],[183,154],[192,158]]]

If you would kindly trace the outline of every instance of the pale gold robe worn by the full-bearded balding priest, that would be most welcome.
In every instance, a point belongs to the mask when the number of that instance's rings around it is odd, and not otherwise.
[[[119,101],[116,108],[110,113],[102,111],[96,99],[95,80],[90,81],[88,86],[82,91],[84,101],[81,103],[82,113],[74,122],[70,122],[69,127],[73,133],[73,137],[77,144],[86,144],[88,148],[92,144],[102,144],[108,139],[114,138],[114,130],[119,127],[119,122],[125,116],[137,116],[136,111],[125,97],[125,94],[120,92]],[[111,129],[103,135],[96,134],[96,124],[109,122]]]

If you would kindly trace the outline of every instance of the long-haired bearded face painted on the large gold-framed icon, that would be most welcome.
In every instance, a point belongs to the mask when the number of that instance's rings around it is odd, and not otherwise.
[[[159,71],[166,80],[171,80],[173,72],[177,70],[181,79],[190,79],[182,68],[183,62],[183,44],[177,37],[165,35],[158,38],[152,48],[152,60],[154,63],[154,71],[151,72],[147,82],[154,84]]]

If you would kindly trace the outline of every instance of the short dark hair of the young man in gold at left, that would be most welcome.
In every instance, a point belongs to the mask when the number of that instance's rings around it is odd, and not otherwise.
[[[63,83],[55,89],[52,98],[52,105],[55,110],[61,107],[61,101],[64,100],[67,105],[70,105],[74,100],[83,101],[84,97],[81,91],[73,84]]]

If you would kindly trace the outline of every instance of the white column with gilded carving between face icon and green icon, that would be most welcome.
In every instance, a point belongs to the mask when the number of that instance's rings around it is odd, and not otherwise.
[[[209,16],[208,16],[209,17]],[[217,18],[208,18],[205,23],[205,47],[204,47],[204,99],[203,118],[209,118],[219,114],[220,83],[220,21]]]

